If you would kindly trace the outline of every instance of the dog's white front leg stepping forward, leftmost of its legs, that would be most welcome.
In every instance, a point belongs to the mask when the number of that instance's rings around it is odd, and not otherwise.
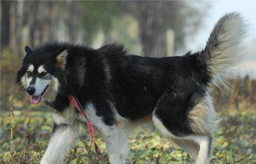
[[[78,138],[77,126],[55,122],[52,137],[40,164],[60,164],[76,138]]]

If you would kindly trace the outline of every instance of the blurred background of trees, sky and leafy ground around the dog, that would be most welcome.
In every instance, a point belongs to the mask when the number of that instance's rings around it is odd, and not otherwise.
[[[221,148],[215,150],[213,161],[224,161],[225,164],[234,164],[234,161],[246,164],[255,162],[256,2],[1,0],[0,5],[0,137],[1,143],[4,143],[1,146],[4,153],[0,155],[2,163],[26,163],[29,160],[30,164],[38,163],[52,128],[52,119],[46,107],[29,105],[28,97],[15,84],[16,72],[25,53],[24,46],[29,45],[33,49],[45,42],[67,41],[99,48],[118,41],[124,44],[128,52],[136,55],[183,55],[191,50],[202,50],[216,21],[225,13],[233,11],[241,12],[250,24],[248,54],[245,54],[248,60],[244,68],[232,72],[238,79],[231,83],[230,92],[213,86],[216,110],[224,117],[224,124],[217,132],[216,139],[219,144],[216,147]],[[11,107],[12,118],[8,112]],[[27,131],[34,135],[30,144],[26,141]],[[10,133],[13,138],[10,138]],[[154,150],[134,153],[133,163],[142,161],[143,164],[149,164],[156,159],[161,164],[175,160],[189,163],[188,154],[181,150],[175,151],[171,143],[162,147],[155,145],[160,140],[157,134],[141,132],[138,136],[133,141],[135,147],[141,144],[136,142],[143,141],[149,146],[152,144]],[[88,153],[92,156],[89,160],[93,164],[94,154],[89,148],[83,152],[84,145],[80,144],[81,152],[76,149],[70,151],[67,163],[74,160],[77,164],[87,161],[87,156],[77,161],[75,154]],[[102,146],[104,149],[104,144]],[[143,146],[132,149],[146,149]],[[33,155],[26,154],[28,148],[31,148],[29,152]],[[150,154],[154,155],[152,159],[144,158]]]

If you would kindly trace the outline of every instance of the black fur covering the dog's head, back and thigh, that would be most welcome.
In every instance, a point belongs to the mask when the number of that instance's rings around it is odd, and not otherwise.
[[[17,75],[27,66],[44,65],[60,82],[54,103],[58,111],[68,105],[67,93],[73,93],[82,105],[92,102],[106,125],[115,124],[114,111],[124,118],[138,120],[152,114],[176,136],[193,133],[187,122],[189,110],[206,92],[210,81],[202,52],[182,57],[148,58],[129,55],[122,45],[110,44],[94,50],[71,44],[47,44],[31,50]],[[56,56],[67,50],[65,69],[57,67]],[[82,83],[81,83],[82,82]]]

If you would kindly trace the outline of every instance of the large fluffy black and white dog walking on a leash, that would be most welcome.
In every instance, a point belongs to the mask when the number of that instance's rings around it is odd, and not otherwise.
[[[54,110],[54,129],[41,164],[59,164],[78,138],[85,118],[69,103],[74,93],[105,138],[110,164],[129,153],[127,126],[151,121],[187,150],[196,164],[209,164],[219,122],[211,83],[227,86],[226,72],[241,63],[246,26],[239,13],[223,16],[201,52],[148,58],[129,55],[122,45],[100,49],[67,43],[25,47],[17,82],[30,102],[42,99]]]

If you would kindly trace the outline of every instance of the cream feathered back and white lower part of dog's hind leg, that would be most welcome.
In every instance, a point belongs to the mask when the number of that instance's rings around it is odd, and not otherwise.
[[[189,111],[188,122],[194,131],[194,134],[188,138],[200,145],[196,164],[209,164],[213,133],[220,122],[216,116],[209,92]]]

